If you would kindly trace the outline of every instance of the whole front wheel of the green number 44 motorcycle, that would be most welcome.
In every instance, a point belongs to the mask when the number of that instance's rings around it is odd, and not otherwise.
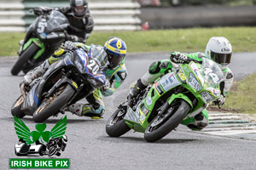
[[[144,133],[144,139],[148,142],[155,142],[165,137],[180,122],[187,116],[190,110],[190,105],[183,99],[175,101],[176,104],[172,105],[166,114],[162,116],[155,116],[154,119],[148,124]]]

